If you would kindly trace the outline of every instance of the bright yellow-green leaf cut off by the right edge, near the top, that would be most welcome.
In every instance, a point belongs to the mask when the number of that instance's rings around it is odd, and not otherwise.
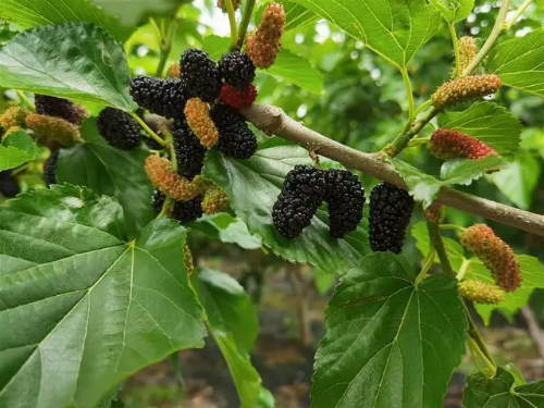
[[[505,85],[544,97],[544,28],[515,37],[490,53],[487,71]]]

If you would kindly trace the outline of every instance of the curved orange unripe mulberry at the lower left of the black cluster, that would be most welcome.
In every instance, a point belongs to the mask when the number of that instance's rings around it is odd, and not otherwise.
[[[159,156],[146,159],[146,173],[157,189],[176,201],[188,201],[197,196],[197,188],[172,169],[172,164]]]

